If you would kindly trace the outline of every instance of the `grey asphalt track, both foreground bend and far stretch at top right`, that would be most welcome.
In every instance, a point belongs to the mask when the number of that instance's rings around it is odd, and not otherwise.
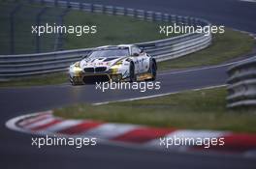
[[[86,1],[89,2],[89,1]],[[193,15],[244,31],[256,31],[256,5],[236,0],[105,0],[94,3],[136,9]],[[206,56],[207,57],[207,56]],[[31,135],[12,131],[5,123],[16,116],[77,102],[101,102],[131,99],[148,95],[178,92],[224,84],[229,66],[165,72],[159,75],[161,90],[108,91],[102,93],[95,86],[72,87],[68,84],[31,88],[0,89],[0,159],[1,168],[255,168],[255,158],[234,155],[163,153],[141,149],[99,145],[77,150],[71,147],[32,147]]]

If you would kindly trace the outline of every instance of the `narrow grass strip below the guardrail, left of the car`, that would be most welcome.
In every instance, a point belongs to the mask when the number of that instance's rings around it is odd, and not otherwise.
[[[17,78],[11,81],[0,81],[0,87],[20,87],[20,86],[42,86],[68,82],[68,74],[65,72],[37,75],[34,77]]]

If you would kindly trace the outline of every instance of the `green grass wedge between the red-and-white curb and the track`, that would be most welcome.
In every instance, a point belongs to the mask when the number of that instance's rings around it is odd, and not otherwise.
[[[77,104],[55,109],[54,115],[153,127],[256,132],[255,110],[227,109],[226,95],[225,88],[217,88],[105,105]]]

